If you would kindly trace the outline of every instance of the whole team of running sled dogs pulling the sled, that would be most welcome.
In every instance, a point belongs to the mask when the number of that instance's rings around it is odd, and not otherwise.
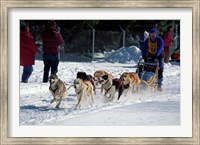
[[[66,89],[65,83],[55,74],[50,76],[49,82],[49,90],[53,95],[51,103],[56,102],[56,108],[59,108],[62,98],[66,96],[67,90],[72,86],[78,99],[76,108],[80,108],[83,97],[91,97],[94,103],[97,85],[101,85],[101,93],[106,99],[112,100],[115,94],[118,93],[117,99],[119,100],[124,91],[125,96],[128,92],[133,92],[134,86],[136,86],[138,92],[141,83],[138,74],[135,72],[124,72],[119,78],[114,78],[112,74],[105,70],[98,70],[93,76],[85,72],[78,72],[73,85],[68,89]]]

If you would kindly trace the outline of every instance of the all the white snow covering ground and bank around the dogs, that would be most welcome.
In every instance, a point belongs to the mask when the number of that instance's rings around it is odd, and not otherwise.
[[[38,54],[39,55],[39,54]],[[41,55],[41,54],[40,54]],[[68,57],[66,55],[66,57]],[[122,72],[135,71],[141,57],[140,50],[131,46],[120,48],[104,61],[88,62],[70,55],[77,61],[60,61],[58,76],[72,84],[76,73],[84,71],[93,74],[104,69],[119,77]],[[67,58],[63,58],[67,59]],[[82,60],[78,62],[78,60]],[[20,67],[20,77],[23,68]],[[83,100],[80,109],[75,108],[77,98],[74,88],[69,88],[60,108],[50,104],[52,96],[49,83],[42,83],[43,62],[37,59],[29,83],[20,83],[20,125],[21,126],[175,126],[180,125],[180,65],[165,64],[163,92],[140,90],[129,93],[117,101],[104,100],[97,87],[95,103]],[[66,86],[67,88],[69,86]]]

